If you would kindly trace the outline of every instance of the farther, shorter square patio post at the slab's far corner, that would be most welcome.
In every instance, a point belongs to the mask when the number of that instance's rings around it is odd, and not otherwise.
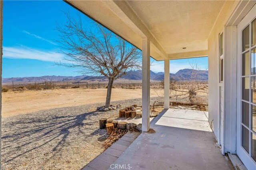
[[[164,60],[164,109],[170,107],[170,60]]]

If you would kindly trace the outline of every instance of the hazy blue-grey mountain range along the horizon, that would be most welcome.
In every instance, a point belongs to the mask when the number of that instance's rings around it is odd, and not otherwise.
[[[192,75],[196,75],[193,77]],[[177,73],[170,73],[170,77],[175,80],[191,80],[191,76],[199,81],[208,80],[208,71],[207,70],[193,70],[193,69],[181,69]],[[141,70],[130,70],[124,75],[121,79],[126,80],[142,80],[142,71]],[[150,79],[151,80],[164,80],[164,72],[155,73],[150,70]],[[2,78],[2,82],[30,82],[30,81],[106,81],[104,76],[91,76],[91,75],[79,75],[79,76],[41,76],[41,77],[12,77],[12,78]]]

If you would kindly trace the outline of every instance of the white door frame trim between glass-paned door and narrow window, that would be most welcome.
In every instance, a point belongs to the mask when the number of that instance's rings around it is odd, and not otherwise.
[[[255,4],[255,0],[238,2],[224,25],[224,153],[236,154],[237,26]]]

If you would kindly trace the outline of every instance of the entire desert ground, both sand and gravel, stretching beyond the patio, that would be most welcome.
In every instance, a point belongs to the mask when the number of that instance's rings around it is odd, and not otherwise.
[[[194,104],[189,103],[188,95],[182,95],[182,89],[188,87],[186,83],[176,85],[180,92],[170,89],[170,107],[202,109],[192,108]],[[130,84],[113,88],[111,104],[121,105],[120,109],[141,105],[141,86],[133,87]],[[2,169],[83,168],[106,149],[104,141],[108,135],[105,129],[99,129],[99,119],[118,118],[118,109],[96,110],[105,104],[106,90],[17,88],[2,93]],[[180,96],[174,97],[177,94]],[[197,96],[207,101],[207,94]],[[161,83],[152,84],[150,105],[155,114],[163,110]]]

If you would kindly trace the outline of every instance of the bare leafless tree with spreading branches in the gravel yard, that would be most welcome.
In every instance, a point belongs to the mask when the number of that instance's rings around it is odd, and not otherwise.
[[[80,15],[75,19],[65,14],[66,24],[57,24],[56,30],[66,62],[56,64],[79,68],[83,74],[104,75],[108,79],[105,107],[109,107],[114,80],[141,68],[141,51],[96,22],[85,28]]]

